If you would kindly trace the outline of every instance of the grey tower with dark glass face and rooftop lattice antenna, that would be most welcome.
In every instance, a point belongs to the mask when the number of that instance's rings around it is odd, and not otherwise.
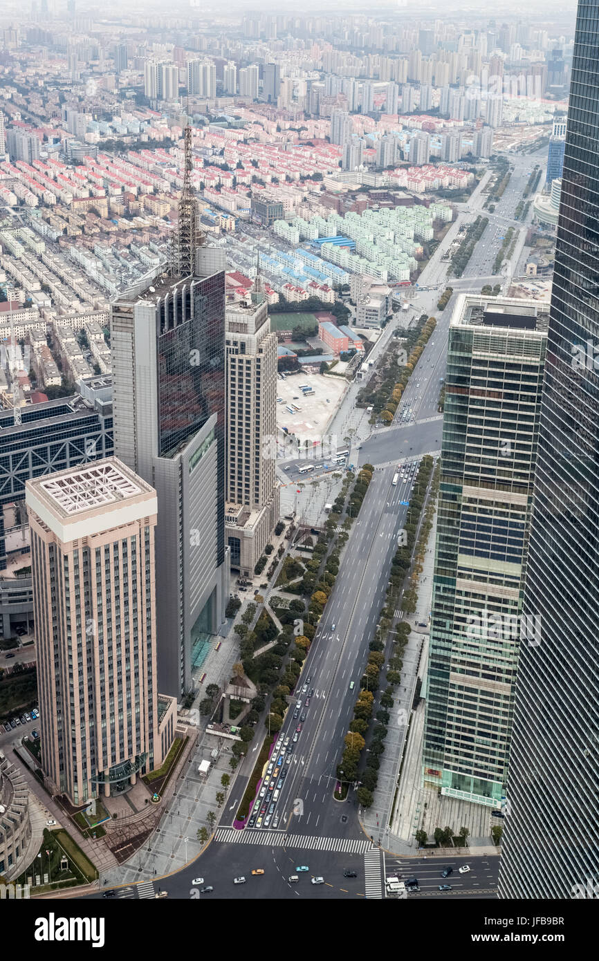
[[[181,217],[180,217],[181,219]],[[228,593],[224,256],[112,304],[114,451],[157,490],[159,681],[191,686]]]

